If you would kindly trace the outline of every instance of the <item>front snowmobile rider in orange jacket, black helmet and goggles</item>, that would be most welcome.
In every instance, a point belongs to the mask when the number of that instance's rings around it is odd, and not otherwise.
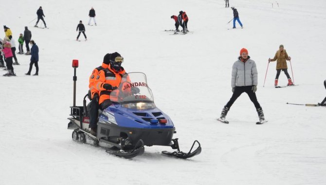
[[[124,58],[117,52],[110,55],[109,67],[99,71],[96,76],[94,87],[99,91],[99,106],[101,110],[109,107],[112,102],[110,101],[110,93],[117,89],[122,76],[126,71],[121,67]]]

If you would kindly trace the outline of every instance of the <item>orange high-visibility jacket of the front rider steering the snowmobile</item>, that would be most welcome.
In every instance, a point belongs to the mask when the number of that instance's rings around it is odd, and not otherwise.
[[[112,87],[119,87],[121,78],[125,74],[126,71],[123,67],[121,67],[119,72],[116,72],[115,70],[111,69],[110,66],[106,69],[99,71],[94,82],[95,89],[100,92],[100,99],[98,101],[98,104],[101,104],[106,99],[110,99],[110,93],[112,92],[110,90],[104,89],[103,85],[107,83],[110,84]]]

